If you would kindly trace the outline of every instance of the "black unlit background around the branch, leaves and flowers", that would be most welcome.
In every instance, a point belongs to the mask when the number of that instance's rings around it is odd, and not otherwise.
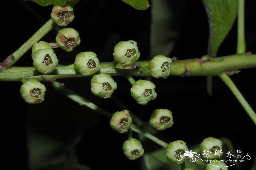
[[[199,0],[182,2],[182,7],[173,7],[177,11],[180,8],[182,11],[179,13],[182,15],[177,16],[178,35],[169,56],[176,56],[178,59],[199,58],[207,54],[206,12]],[[175,2],[172,1],[172,4]],[[50,18],[51,8],[40,7],[30,1],[9,0],[2,3],[0,61],[18,49]],[[246,50],[256,54],[254,8],[255,1],[246,0]],[[73,63],[75,55],[83,51],[94,51],[101,62],[112,61],[114,45],[125,40],[137,41],[140,60],[148,59],[151,7],[146,11],[137,11],[120,0],[81,0],[74,9],[75,20],[68,27],[79,31],[81,44],[69,53],[56,49],[60,64]],[[236,25],[237,22],[219,49],[218,56],[236,53]],[[56,31],[51,31],[42,40],[53,42],[56,34]],[[32,66],[30,56],[29,51],[15,66]],[[254,110],[255,71],[255,68],[242,70],[231,77]],[[182,139],[190,148],[209,136],[228,138],[233,142],[235,150],[242,149],[243,154],[251,155],[251,161],[241,164],[242,169],[251,168],[256,151],[255,141],[252,139],[255,136],[255,125],[218,77],[213,79],[212,97],[207,95],[205,77],[153,79],[158,96],[146,106],[140,106],[132,99],[129,92],[131,85],[125,78],[114,77],[114,80],[118,84],[114,92],[116,98],[141,119],[147,121],[151,112],[157,108],[167,108],[173,112],[173,127],[160,133],[160,138],[164,141]],[[102,100],[93,96],[90,92],[90,78],[62,79],[59,82],[110,112],[122,109],[111,98]],[[20,86],[20,82],[0,82],[0,113],[3,122],[1,153],[4,157],[3,164],[10,166],[8,169],[28,169],[29,160],[34,161],[32,164],[35,169],[47,169],[50,163],[46,163],[47,166],[43,168],[44,165],[40,162],[49,162],[48,159],[55,159],[60,155],[70,158],[74,155],[74,150],[79,162],[91,169],[140,169],[140,159],[129,161],[123,155],[121,147],[127,136],[113,131],[107,118],[86,107],[80,107],[48,84],[45,101],[29,106],[19,94]],[[42,140],[37,141],[41,137]],[[134,137],[138,136],[134,134]],[[51,142],[53,144],[48,145]],[[145,153],[160,148],[151,141],[142,144]],[[28,149],[34,152],[29,152]],[[46,155],[49,154],[47,159],[40,154],[33,155],[44,151]],[[31,155],[33,158],[29,159]]]

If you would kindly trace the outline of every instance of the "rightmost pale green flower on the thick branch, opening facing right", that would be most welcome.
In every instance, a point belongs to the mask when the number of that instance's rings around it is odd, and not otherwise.
[[[167,77],[170,74],[170,64],[172,59],[163,56],[157,55],[150,62],[150,71],[154,78]]]

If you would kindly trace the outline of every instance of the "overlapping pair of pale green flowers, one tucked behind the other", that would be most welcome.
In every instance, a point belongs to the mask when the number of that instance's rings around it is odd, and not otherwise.
[[[32,59],[35,70],[50,74],[59,64],[52,47],[45,41],[39,41],[32,47]]]

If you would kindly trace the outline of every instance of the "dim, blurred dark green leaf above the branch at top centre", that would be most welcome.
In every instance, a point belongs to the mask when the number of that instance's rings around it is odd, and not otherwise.
[[[168,56],[173,49],[184,15],[185,0],[152,0],[150,58]]]

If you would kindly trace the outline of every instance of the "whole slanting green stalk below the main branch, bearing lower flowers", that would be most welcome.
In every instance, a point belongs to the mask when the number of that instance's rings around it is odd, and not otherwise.
[[[79,103],[80,105],[89,107],[91,110],[97,111],[103,116],[111,119],[112,114],[103,108],[95,105],[94,103],[91,103],[89,100],[83,98],[82,96],[76,94],[75,92],[69,90],[68,88],[64,87],[63,83],[56,82],[54,80],[48,80],[52,84],[55,90],[61,92],[62,94],[66,95],[68,98],[74,100],[75,102]],[[138,126],[135,124],[132,124],[129,128],[130,130],[142,134],[144,137],[147,137],[148,139],[154,141],[158,145],[166,148],[168,146],[168,143],[163,142],[162,140],[158,139],[157,137],[151,135],[150,133],[147,133],[146,131],[140,129]]]

